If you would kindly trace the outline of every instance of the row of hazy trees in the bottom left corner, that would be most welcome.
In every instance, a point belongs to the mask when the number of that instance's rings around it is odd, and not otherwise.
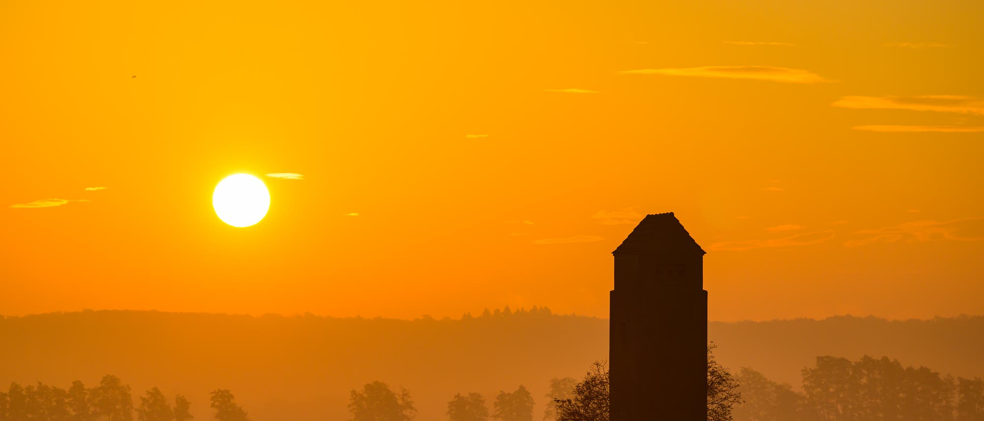
[[[246,411],[227,390],[212,391],[211,406],[218,421],[249,421]],[[119,378],[106,375],[99,386],[86,388],[81,381],[72,382],[67,390],[37,385],[22,387],[17,383],[0,391],[0,421],[132,421],[134,412],[140,421],[188,421],[191,402],[181,395],[171,399],[157,388],[140,396],[134,407],[130,386]]]

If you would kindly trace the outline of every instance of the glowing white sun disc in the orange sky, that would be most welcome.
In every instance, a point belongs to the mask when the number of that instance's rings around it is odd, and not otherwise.
[[[270,210],[270,191],[252,175],[230,175],[215,186],[212,207],[222,222],[239,227],[254,225]]]

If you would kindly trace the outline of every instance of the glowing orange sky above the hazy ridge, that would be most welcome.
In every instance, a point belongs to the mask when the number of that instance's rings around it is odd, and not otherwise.
[[[671,210],[711,320],[981,314],[982,17],[3,2],[0,314],[606,317],[610,252]],[[303,179],[233,228],[236,172]]]

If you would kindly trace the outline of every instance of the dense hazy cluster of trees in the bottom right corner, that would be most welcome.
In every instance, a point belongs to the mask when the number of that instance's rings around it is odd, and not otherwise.
[[[984,421],[984,381],[903,367],[889,357],[817,357],[802,391],[742,368],[734,421]]]

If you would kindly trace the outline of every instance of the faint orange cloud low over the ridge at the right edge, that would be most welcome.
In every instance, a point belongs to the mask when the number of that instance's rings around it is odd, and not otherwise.
[[[978,241],[984,240],[984,216],[965,217],[948,221],[915,220],[894,226],[863,229],[857,234],[867,238],[849,240],[844,246],[858,247],[872,243],[895,241]]]

